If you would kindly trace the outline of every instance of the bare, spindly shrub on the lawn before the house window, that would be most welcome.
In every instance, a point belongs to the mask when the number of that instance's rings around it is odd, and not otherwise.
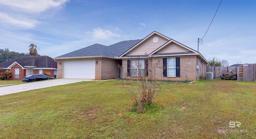
[[[134,102],[136,112],[144,112],[146,106],[150,106],[160,89],[160,82],[156,80],[156,72],[162,71],[163,66],[160,61],[154,62],[152,57],[138,57],[128,60],[128,71],[123,74],[127,78],[120,80],[121,86]]]

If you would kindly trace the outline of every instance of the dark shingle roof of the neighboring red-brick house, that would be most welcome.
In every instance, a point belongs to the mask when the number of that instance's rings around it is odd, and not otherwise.
[[[28,56],[18,57],[9,61],[0,63],[0,68],[8,68],[14,62],[22,67],[36,67],[36,68],[55,68],[57,69],[57,62],[48,56]]]

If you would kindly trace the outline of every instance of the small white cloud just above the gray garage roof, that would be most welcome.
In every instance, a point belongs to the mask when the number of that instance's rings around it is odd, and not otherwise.
[[[110,37],[120,37],[118,33],[112,33],[112,31],[107,29],[101,29],[100,27],[93,29],[93,36],[94,39],[108,39]]]

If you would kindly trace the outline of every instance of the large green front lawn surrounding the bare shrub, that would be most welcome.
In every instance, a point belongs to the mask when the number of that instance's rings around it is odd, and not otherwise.
[[[0,138],[256,139],[255,82],[163,83],[156,102],[159,109],[130,112],[119,81],[0,96]]]

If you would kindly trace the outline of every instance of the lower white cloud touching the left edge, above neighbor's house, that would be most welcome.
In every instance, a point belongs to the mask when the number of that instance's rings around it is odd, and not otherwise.
[[[38,23],[38,21],[23,15],[0,12],[0,23],[32,28],[36,25],[36,23]]]

